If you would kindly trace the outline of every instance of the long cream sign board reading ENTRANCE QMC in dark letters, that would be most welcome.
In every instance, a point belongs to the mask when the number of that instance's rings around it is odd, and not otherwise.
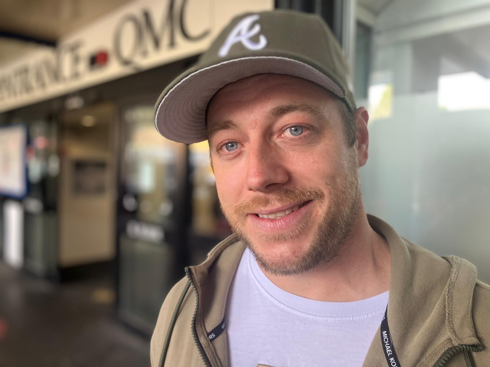
[[[236,15],[273,7],[273,0],[129,2],[56,48],[0,69],[0,112],[201,53]]]

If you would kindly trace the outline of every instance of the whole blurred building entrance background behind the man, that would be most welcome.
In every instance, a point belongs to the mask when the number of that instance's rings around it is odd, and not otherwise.
[[[490,0],[0,0],[0,366],[148,364],[170,287],[230,233],[207,142],[162,138],[154,103],[231,18],[273,8],[343,46],[366,211],[490,282]]]

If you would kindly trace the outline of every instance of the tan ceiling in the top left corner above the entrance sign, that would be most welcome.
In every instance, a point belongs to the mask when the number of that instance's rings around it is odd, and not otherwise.
[[[131,0],[0,0],[0,66]]]

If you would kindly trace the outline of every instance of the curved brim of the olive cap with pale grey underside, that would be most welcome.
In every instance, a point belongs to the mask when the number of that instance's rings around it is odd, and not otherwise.
[[[207,139],[206,107],[225,85],[247,76],[275,73],[310,80],[343,97],[342,89],[318,69],[295,59],[279,56],[243,57],[223,61],[177,78],[157,105],[155,125],[165,138],[185,144]]]

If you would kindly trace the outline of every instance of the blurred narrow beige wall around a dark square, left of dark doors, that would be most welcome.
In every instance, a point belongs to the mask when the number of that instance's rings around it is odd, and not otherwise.
[[[110,260],[115,255],[115,157],[113,153],[113,109],[98,112],[98,125],[83,127],[77,118],[94,114],[85,110],[67,116],[61,136],[61,172],[59,193],[59,250],[61,267]],[[105,191],[99,194],[76,193],[74,161],[106,163]]]

